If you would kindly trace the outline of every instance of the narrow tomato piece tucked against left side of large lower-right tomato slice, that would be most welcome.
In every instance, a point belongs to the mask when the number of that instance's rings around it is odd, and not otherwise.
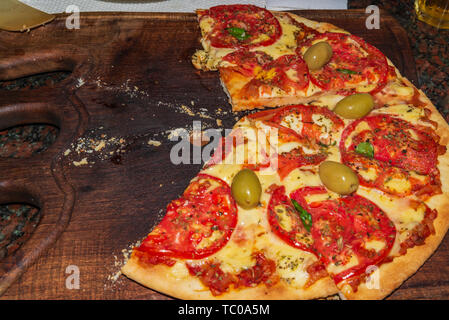
[[[268,204],[268,221],[271,230],[292,247],[313,252],[313,239],[306,230],[298,212],[285,195],[284,186],[272,190]]]

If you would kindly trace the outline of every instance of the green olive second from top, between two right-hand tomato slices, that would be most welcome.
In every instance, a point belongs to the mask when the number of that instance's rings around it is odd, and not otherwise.
[[[359,119],[366,116],[374,107],[374,99],[369,93],[355,93],[335,105],[334,112],[345,119]]]

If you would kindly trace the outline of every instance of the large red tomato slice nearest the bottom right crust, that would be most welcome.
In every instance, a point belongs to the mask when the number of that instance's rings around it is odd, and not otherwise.
[[[335,269],[328,267],[338,284],[382,263],[393,247],[396,228],[379,207],[356,194],[324,201],[306,199],[326,193],[324,187],[304,187],[292,192],[290,198],[311,214],[314,248],[324,264],[340,268],[334,273]],[[373,243],[380,244],[378,250],[370,246]]]

